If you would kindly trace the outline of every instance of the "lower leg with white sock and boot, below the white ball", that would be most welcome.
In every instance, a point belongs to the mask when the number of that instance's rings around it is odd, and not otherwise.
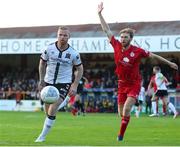
[[[42,129],[41,134],[36,139],[35,142],[43,142],[45,141],[46,135],[50,131],[51,127],[54,125],[55,119],[56,119],[56,113],[58,111],[59,105],[62,103],[63,99],[60,98],[58,101],[54,104],[46,105],[45,111],[46,111],[46,119],[44,121],[44,126]]]

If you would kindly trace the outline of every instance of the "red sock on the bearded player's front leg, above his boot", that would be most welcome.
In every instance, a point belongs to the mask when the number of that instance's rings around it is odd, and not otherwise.
[[[121,137],[124,136],[124,133],[125,133],[126,128],[128,126],[129,120],[130,120],[130,116],[123,116],[122,117],[121,127],[120,127],[120,131],[119,131],[119,135],[118,136],[121,136]]]

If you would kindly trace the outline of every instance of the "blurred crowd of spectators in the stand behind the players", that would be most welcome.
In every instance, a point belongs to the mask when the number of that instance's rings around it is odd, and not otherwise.
[[[173,57],[172,60],[180,65],[178,58]],[[114,74],[114,66],[98,64],[98,62],[94,65],[85,63],[84,66],[87,67],[84,76],[88,79],[82,94],[86,112],[117,112],[117,77]],[[145,89],[152,76],[153,66],[149,60],[140,66]],[[162,73],[172,83],[169,88],[179,90],[180,71],[176,72],[164,64],[160,67]],[[3,66],[0,69],[0,99],[38,100],[37,85],[37,69],[15,69]]]

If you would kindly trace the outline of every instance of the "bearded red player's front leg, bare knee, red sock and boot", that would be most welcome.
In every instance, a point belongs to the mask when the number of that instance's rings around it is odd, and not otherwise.
[[[123,116],[122,116],[122,120],[121,120],[121,127],[120,127],[120,131],[118,134],[118,141],[122,141],[123,137],[124,137],[124,133],[126,131],[126,128],[128,126],[129,120],[130,120],[130,113],[131,113],[131,109],[133,107],[133,105],[135,104],[136,100],[135,98],[132,97],[128,97],[124,107],[123,107]]]

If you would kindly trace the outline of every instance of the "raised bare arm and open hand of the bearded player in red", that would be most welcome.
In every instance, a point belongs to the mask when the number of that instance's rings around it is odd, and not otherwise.
[[[98,5],[98,16],[99,16],[99,19],[100,19],[100,22],[101,22],[101,26],[102,26],[102,29],[103,31],[106,33],[106,35],[108,36],[109,40],[111,41],[111,38],[113,36],[108,24],[106,23],[106,21],[104,20],[104,17],[102,16],[102,10],[104,9],[103,7],[103,3],[101,2],[99,5]]]

